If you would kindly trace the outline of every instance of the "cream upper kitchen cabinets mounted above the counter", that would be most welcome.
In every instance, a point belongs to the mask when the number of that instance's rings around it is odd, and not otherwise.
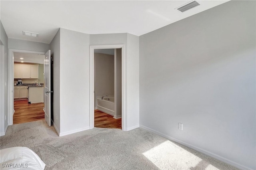
[[[38,65],[14,63],[14,79],[38,79]]]

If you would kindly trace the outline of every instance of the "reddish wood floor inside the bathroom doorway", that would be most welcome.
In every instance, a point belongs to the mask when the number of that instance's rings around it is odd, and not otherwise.
[[[122,118],[114,119],[111,115],[99,110],[94,110],[94,127],[122,128]]]

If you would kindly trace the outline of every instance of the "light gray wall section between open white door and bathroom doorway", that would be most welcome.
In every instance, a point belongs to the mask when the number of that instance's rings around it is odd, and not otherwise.
[[[89,34],[60,28],[60,133],[89,129]]]

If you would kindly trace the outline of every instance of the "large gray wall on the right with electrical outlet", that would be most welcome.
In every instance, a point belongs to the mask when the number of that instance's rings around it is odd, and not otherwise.
[[[142,127],[256,169],[255,7],[226,2],[140,36]]]

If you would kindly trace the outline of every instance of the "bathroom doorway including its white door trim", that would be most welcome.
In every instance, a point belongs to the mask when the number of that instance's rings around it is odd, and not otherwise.
[[[126,130],[124,60],[122,44],[90,45],[90,128]]]

